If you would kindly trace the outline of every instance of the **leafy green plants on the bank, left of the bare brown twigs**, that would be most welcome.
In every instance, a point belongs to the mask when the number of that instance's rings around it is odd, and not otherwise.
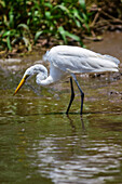
[[[82,45],[82,31],[90,34],[84,0],[0,0],[0,50],[25,44],[30,51],[41,36]]]

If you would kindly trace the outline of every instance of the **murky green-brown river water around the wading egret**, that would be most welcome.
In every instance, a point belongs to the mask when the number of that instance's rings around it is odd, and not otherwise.
[[[106,35],[89,47],[121,60],[121,37]],[[38,60],[0,63],[0,183],[121,184],[121,74],[78,76],[85,93],[83,117],[76,86],[67,117],[68,79],[51,88],[39,88],[31,79],[13,96],[25,68]]]

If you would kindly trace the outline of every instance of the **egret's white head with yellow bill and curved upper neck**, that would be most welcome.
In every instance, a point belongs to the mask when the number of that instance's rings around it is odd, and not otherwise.
[[[23,84],[27,81],[27,79],[29,79],[31,76],[38,75],[38,74],[40,74],[40,76],[41,76],[40,79],[45,79],[48,77],[48,69],[43,65],[38,65],[38,64],[29,67],[25,71],[21,82],[18,83],[18,86],[14,92],[14,95],[18,92],[18,90],[23,87]]]

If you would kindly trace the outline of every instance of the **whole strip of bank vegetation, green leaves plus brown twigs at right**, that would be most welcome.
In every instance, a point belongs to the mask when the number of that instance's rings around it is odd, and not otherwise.
[[[0,51],[50,44],[83,45],[82,38],[121,28],[119,0],[0,0]]]

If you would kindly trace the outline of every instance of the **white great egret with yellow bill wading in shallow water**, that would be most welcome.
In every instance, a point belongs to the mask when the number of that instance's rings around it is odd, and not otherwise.
[[[74,74],[118,71],[118,65],[120,63],[118,58],[110,55],[101,55],[87,49],[71,45],[54,47],[45,53],[43,58],[50,62],[49,77],[48,69],[43,65],[33,65],[25,71],[14,94],[17,93],[24,82],[32,75],[37,75],[36,82],[40,86],[49,86],[62,80],[66,76],[70,76],[71,96],[66,111],[67,115],[74,98],[72,78],[81,93],[81,115],[83,110],[84,93]]]

